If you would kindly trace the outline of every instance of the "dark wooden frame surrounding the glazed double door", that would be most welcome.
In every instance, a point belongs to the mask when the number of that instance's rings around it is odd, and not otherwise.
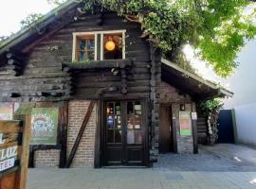
[[[138,98],[138,99],[101,99],[98,101],[98,124],[97,124],[97,129],[96,129],[96,139],[95,139],[95,162],[94,166],[95,168],[101,168],[104,165],[104,155],[105,155],[105,146],[104,146],[104,117],[105,117],[105,106],[107,101],[120,101],[120,102],[127,102],[129,100],[139,100],[141,101],[142,105],[142,111],[144,111],[142,115],[142,123],[144,124],[144,159],[143,163],[145,166],[150,166],[150,151],[149,151],[149,99],[146,98]]]

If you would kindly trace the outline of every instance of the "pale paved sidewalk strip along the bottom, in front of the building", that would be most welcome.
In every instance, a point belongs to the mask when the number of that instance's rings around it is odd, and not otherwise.
[[[27,189],[255,189],[256,172],[30,169]],[[255,182],[254,182],[254,181]]]

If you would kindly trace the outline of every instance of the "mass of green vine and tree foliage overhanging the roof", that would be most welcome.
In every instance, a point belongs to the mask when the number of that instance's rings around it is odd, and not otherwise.
[[[47,1],[60,5],[66,0]],[[190,43],[198,57],[222,77],[229,76],[239,65],[235,61],[237,54],[256,35],[256,4],[248,0],[76,1],[85,12],[107,9],[139,23],[142,37],[173,61],[184,60],[180,55],[182,47]]]

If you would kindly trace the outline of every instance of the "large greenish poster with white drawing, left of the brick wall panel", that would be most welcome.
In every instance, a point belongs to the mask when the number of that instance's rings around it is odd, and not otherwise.
[[[59,108],[34,108],[30,145],[56,145]]]

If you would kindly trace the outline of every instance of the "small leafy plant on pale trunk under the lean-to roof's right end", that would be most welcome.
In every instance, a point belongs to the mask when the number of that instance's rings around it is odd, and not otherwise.
[[[218,139],[217,119],[220,109],[223,107],[222,101],[219,99],[211,99],[201,102],[200,108],[207,117],[208,122],[208,144],[213,145]]]

